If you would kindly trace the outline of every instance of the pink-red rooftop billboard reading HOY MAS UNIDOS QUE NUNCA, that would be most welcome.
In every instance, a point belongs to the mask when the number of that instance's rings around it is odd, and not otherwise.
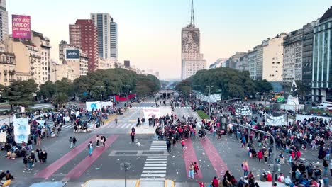
[[[11,16],[11,30],[13,31],[13,38],[31,38],[31,23],[30,16],[12,15]]]

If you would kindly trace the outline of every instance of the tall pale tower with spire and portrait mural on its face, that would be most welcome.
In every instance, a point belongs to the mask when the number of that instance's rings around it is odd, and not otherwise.
[[[199,28],[195,27],[194,21],[194,2],[192,0],[192,13],[190,23],[181,30],[182,40],[182,71],[181,79],[196,74],[201,69],[206,69],[206,60],[200,53],[200,33]]]

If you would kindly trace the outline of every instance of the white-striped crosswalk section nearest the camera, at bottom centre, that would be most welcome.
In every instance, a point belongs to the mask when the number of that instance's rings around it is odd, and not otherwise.
[[[167,156],[148,156],[145,161],[140,181],[165,181]]]

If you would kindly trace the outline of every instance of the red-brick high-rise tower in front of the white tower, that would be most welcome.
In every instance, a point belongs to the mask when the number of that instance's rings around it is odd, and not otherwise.
[[[75,24],[70,24],[70,45],[81,48],[88,53],[89,72],[98,67],[97,29],[90,19],[79,19]]]

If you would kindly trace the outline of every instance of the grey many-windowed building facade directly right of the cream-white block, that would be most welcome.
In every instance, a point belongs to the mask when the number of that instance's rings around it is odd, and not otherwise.
[[[302,80],[303,29],[295,30],[284,37],[284,68],[282,83],[291,85]]]

